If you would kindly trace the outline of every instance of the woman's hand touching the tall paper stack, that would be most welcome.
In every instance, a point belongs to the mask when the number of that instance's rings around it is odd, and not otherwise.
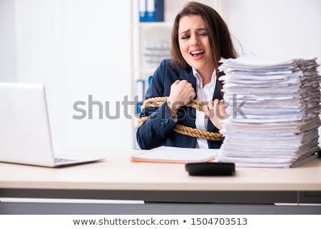
[[[208,105],[205,106],[205,113],[216,128],[219,130],[222,129],[222,120],[226,116],[226,107],[223,99],[218,100],[216,98],[214,101],[208,103]]]

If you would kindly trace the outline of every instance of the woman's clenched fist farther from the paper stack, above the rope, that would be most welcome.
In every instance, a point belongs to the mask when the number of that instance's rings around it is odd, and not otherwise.
[[[186,80],[175,81],[170,86],[170,95],[167,98],[170,115],[175,115],[179,108],[188,104],[195,96],[192,83],[188,83]]]

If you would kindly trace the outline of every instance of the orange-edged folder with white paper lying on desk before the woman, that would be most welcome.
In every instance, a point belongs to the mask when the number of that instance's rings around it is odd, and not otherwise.
[[[219,149],[179,148],[161,146],[147,151],[138,151],[131,157],[132,162],[148,163],[191,163],[218,161]]]

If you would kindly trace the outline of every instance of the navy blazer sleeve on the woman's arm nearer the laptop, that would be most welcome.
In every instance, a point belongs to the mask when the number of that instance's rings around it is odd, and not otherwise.
[[[162,61],[153,74],[151,85],[146,92],[146,99],[153,97],[168,96],[170,83],[165,83],[165,68],[168,62]],[[169,85],[170,84],[170,85]],[[165,88],[166,87],[166,88]],[[164,93],[165,91],[165,93]],[[140,117],[151,116],[140,126],[136,132],[138,146],[141,149],[151,149],[165,146],[168,136],[172,133],[176,123],[170,118],[167,103],[159,108],[146,108]]]

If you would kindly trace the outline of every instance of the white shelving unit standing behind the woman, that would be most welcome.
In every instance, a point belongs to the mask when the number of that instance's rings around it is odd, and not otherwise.
[[[162,22],[139,22],[139,0],[131,1],[131,81],[132,101],[138,96],[138,101],[143,101],[148,88],[148,77],[158,67],[161,60],[170,58],[170,34],[172,31],[175,15],[183,9],[188,0],[164,2],[164,21]],[[200,1],[208,6],[222,11],[220,0]],[[138,111],[133,108],[133,148],[138,148],[136,143],[136,129]]]

